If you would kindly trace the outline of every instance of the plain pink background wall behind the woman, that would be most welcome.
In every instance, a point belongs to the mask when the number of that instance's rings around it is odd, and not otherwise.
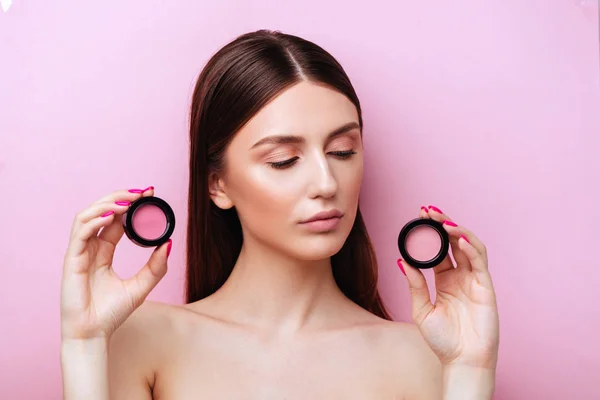
[[[394,3],[0,11],[0,398],[61,398],[62,256],[74,214],[96,198],[155,185],[171,203],[171,267],[151,298],[181,301],[192,87],[214,51],[263,27],[321,44],[353,79],[362,209],[396,318],[410,318],[397,234],[434,204],[489,248],[496,398],[600,398],[597,1]],[[123,240],[116,268],[130,276],[148,254]]]

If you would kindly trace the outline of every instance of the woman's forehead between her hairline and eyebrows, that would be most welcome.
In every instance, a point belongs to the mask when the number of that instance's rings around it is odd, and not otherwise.
[[[264,106],[236,134],[232,145],[252,147],[269,135],[297,135],[320,140],[349,122],[358,123],[356,107],[346,96],[328,87],[300,82]]]

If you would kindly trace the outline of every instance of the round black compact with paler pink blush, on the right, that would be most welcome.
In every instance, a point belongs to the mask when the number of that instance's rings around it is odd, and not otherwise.
[[[440,264],[450,248],[448,232],[433,219],[416,218],[409,221],[398,235],[398,249],[402,258],[419,269]]]

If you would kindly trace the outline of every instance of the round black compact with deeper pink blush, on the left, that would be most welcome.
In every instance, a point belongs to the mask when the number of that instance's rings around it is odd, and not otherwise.
[[[157,247],[165,243],[175,230],[175,213],[169,204],[155,196],[142,197],[123,214],[123,229],[133,243]]]

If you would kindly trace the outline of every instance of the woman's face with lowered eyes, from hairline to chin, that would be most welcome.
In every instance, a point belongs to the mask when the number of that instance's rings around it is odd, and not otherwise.
[[[343,94],[310,82],[292,86],[234,136],[225,151],[224,193],[213,200],[236,207],[244,241],[302,260],[330,257],[356,217],[360,134],[356,107]],[[330,210],[343,213],[331,229],[303,223]]]

